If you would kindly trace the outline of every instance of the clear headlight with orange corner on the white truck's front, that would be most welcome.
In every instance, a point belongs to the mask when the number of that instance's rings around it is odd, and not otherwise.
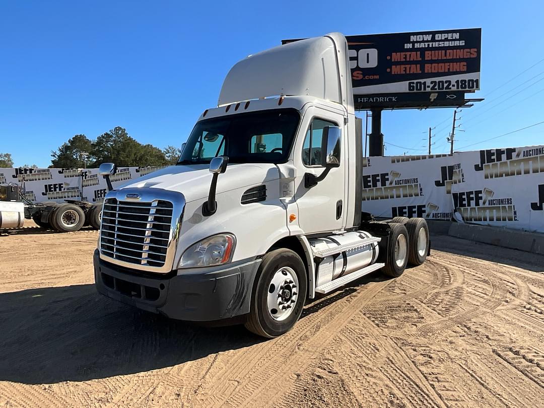
[[[212,267],[232,259],[236,239],[232,234],[218,234],[189,246],[181,256],[178,268]]]

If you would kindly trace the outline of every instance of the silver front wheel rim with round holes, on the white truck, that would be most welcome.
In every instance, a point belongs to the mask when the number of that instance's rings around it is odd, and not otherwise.
[[[268,284],[267,310],[277,322],[287,319],[296,305],[299,292],[299,279],[293,268],[278,269]]]

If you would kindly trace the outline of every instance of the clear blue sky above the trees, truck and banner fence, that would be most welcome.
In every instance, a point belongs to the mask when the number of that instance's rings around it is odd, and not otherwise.
[[[540,1],[0,0],[0,152],[16,166],[47,166],[74,134],[94,139],[115,126],[141,143],[181,146],[230,67],[282,39],[482,27],[474,96],[486,101],[460,114],[462,149],[544,121],[543,15]],[[433,152],[447,152],[452,114],[384,112],[386,154],[424,153],[429,126]],[[543,144],[543,135],[544,124],[462,150]]]

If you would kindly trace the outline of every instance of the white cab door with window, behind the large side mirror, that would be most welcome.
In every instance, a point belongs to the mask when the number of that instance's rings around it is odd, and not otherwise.
[[[323,128],[341,128],[341,160],[317,186],[305,186],[305,174],[318,177],[325,171],[321,160]],[[341,230],[345,217],[345,143],[344,115],[329,110],[310,107],[302,118],[296,140],[293,162],[296,165],[295,200],[298,205],[299,226],[305,234]]]

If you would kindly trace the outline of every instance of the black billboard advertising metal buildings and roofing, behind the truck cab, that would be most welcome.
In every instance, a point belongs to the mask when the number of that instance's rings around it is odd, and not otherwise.
[[[356,109],[459,107],[480,89],[481,28],[346,39]]]

